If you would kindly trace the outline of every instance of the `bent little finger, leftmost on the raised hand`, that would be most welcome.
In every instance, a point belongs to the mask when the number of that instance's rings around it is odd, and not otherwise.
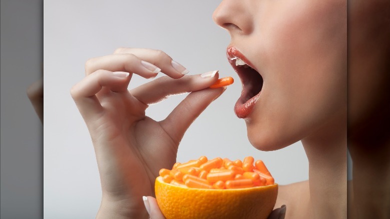
[[[75,84],[70,94],[81,115],[87,118],[102,111],[102,106],[96,97],[97,92],[103,87],[107,87],[108,91],[127,92],[129,81],[128,72],[97,70]]]

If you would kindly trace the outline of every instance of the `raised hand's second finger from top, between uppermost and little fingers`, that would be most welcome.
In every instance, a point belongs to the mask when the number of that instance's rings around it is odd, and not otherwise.
[[[110,54],[91,58],[85,62],[86,75],[99,69],[136,73],[145,78],[155,77],[161,70],[149,62],[139,59],[134,54]]]

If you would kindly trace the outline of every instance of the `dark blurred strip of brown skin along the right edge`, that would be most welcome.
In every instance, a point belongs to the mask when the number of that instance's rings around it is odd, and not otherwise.
[[[389,218],[390,1],[355,0],[349,8],[348,218]]]

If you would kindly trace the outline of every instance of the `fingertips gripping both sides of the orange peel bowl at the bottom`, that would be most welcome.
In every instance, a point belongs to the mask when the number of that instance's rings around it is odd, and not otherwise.
[[[142,199],[147,212],[150,214],[150,219],[165,219],[154,197],[148,196],[142,197]],[[283,204],[281,207],[273,209],[267,219],[284,219],[285,211],[286,206]]]

